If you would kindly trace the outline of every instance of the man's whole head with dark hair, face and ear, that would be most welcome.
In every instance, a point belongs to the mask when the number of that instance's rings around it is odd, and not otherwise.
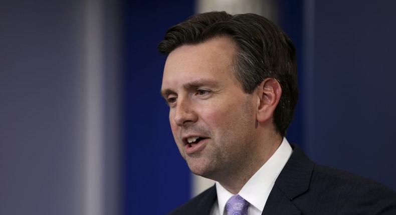
[[[159,50],[161,93],[191,171],[220,181],[263,161],[263,140],[283,136],[296,103],[287,36],[255,14],[210,12],[171,27]]]

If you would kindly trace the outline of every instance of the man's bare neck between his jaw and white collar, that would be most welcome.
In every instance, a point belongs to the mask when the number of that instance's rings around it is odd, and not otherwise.
[[[235,168],[230,172],[223,172],[224,177],[217,178],[217,181],[231,193],[239,193],[245,183],[267,162],[282,143],[283,137],[276,132],[263,134],[263,136],[264,139],[261,138],[249,149],[249,159],[234,165]]]

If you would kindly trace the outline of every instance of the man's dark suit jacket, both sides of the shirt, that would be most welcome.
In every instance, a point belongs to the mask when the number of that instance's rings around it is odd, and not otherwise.
[[[262,214],[392,214],[396,193],[367,178],[313,163],[291,144],[293,153],[268,196]],[[217,199],[212,186],[169,214],[209,214]]]

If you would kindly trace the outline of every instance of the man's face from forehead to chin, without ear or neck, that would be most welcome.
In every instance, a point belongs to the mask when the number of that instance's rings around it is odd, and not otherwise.
[[[161,93],[181,156],[195,174],[218,179],[252,152],[257,101],[232,73],[228,37],[182,45],[167,57]]]

